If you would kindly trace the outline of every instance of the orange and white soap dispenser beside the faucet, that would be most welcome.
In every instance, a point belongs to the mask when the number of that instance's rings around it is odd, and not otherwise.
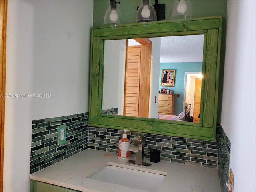
[[[124,129],[123,138],[121,138],[118,143],[118,157],[121,159],[130,158],[130,151],[128,151],[130,147],[130,139],[127,138],[126,131],[130,130]]]

